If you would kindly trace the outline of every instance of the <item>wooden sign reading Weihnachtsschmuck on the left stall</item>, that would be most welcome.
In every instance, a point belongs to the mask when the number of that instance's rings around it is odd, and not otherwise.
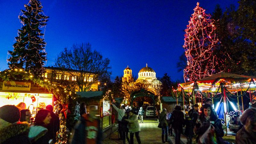
[[[4,81],[2,90],[30,91],[31,83]]]

